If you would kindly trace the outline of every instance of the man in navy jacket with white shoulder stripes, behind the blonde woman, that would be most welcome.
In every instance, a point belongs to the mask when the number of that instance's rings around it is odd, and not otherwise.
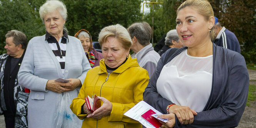
[[[240,53],[240,45],[236,35],[233,32],[230,32],[225,27],[221,26],[221,23],[218,22],[218,18],[215,18],[214,31],[216,32],[214,43],[218,46],[228,48],[230,50]]]

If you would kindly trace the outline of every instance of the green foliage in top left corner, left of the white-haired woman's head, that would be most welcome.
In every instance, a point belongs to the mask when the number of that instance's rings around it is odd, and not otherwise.
[[[44,25],[28,0],[1,0],[0,12],[0,54],[6,52],[5,34],[9,30],[15,29],[25,33],[27,40],[43,35]]]

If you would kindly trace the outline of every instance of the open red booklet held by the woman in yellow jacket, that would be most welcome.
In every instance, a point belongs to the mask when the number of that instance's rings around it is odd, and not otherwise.
[[[101,106],[101,100],[95,94],[93,99],[90,98],[90,96],[85,97],[85,103],[87,105],[88,110],[92,113]]]

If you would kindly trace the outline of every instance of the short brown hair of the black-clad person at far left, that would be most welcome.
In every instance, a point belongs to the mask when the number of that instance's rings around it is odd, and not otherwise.
[[[27,47],[27,37],[23,32],[20,32],[18,30],[10,30],[5,35],[6,38],[13,37],[13,43],[15,46],[21,45],[22,49],[25,49]]]

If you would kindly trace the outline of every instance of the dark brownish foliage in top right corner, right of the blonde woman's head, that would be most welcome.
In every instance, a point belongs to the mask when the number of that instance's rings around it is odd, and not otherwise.
[[[241,45],[241,54],[247,63],[256,62],[256,1],[212,0],[214,14],[221,25],[233,32]]]

